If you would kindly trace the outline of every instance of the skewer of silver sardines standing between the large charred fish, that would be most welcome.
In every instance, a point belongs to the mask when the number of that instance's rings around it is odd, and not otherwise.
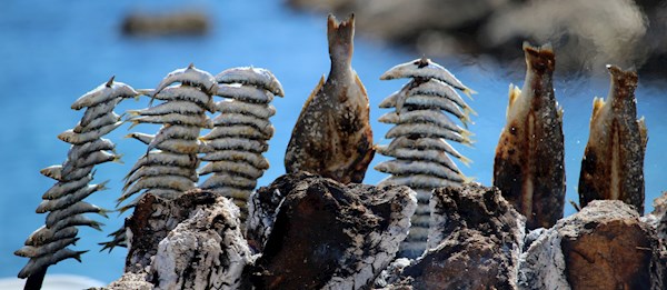
[[[447,113],[467,127],[469,116],[475,111],[457,90],[468,96],[474,91],[447,69],[426,58],[398,64],[380,77],[382,80],[402,78],[411,80],[380,103],[380,108],[395,108],[395,111],[381,116],[379,121],[395,126],[385,136],[394,140],[389,146],[378,146],[377,151],[394,159],[375,169],[391,174],[380,181],[380,186],[408,186],[417,192],[417,211],[401,247],[404,257],[415,258],[426,249],[432,189],[457,187],[466,181],[450,156],[466,164],[470,161],[446,140],[469,146],[471,133]]]

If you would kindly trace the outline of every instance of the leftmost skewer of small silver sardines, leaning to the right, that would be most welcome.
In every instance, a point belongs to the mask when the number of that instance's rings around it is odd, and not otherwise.
[[[59,166],[51,166],[40,172],[57,180],[44,194],[38,206],[38,213],[46,213],[46,224],[36,230],[26,240],[26,246],[14,254],[30,258],[28,264],[19,272],[19,278],[27,278],[61,260],[73,258],[80,261],[86,251],[73,251],[67,247],[74,244],[77,226],[87,226],[101,230],[101,223],[91,220],[83,213],[98,213],[107,217],[107,210],[83,201],[88,196],[107,189],[106,183],[90,184],[93,168],[109,161],[119,161],[115,153],[115,144],[102,137],[118,128],[122,121],[113,112],[113,108],[125,98],[139,96],[135,89],[111,78],[94,90],[83,94],[71,106],[74,110],[86,108],[80,122],[70,130],[58,136],[71,143],[67,160]]]

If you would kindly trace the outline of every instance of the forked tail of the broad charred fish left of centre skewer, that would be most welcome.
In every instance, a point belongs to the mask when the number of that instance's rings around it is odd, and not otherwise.
[[[327,18],[327,37],[331,59],[351,60],[355,38],[355,14],[338,21],[334,14]]]

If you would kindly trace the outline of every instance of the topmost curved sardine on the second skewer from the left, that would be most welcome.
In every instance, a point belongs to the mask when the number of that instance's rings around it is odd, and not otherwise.
[[[190,63],[185,69],[177,69],[172,72],[169,72],[167,77],[165,77],[165,79],[162,79],[156,88],[153,97],[156,94],[159,94],[165,88],[175,82],[180,82],[182,84],[187,84],[188,87],[198,87],[199,89],[209,94],[215,93],[218,83],[213,76],[203,70],[195,68],[195,64]]]

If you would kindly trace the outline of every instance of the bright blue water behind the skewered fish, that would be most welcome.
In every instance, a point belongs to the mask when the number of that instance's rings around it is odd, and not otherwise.
[[[56,136],[72,128],[81,118],[69,109],[82,93],[106,82],[112,74],[117,81],[135,88],[155,88],[168,72],[193,62],[198,68],[217,73],[239,66],[271,70],[286,90],[276,99],[278,113],[271,119],[276,136],[267,153],[272,167],[259,180],[270,183],[285,172],[282,157],[300,108],[319,80],[328,72],[326,21],[322,16],[287,10],[280,1],[189,1],[193,9],[210,16],[212,31],[206,37],[126,38],[120,33],[123,16],[136,9],[169,11],[180,1],[4,1],[0,10],[0,277],[13,277],[28,259],[12,252],[43,224],[44,214],[34,213],[41,194],[53,181],[39,170],[61,163],[69,146]],[[517,48],[520,49],[520,48]],[[371,119],[387,112],[377,104],[406,81],[379,81],[388,68],[419,56],[400,51],[386,43],[365,40],[358,34],[354,67],[366,84],[371,104]],[[474,148],[457,146],[471,158],[466,174],[490,184],[494,150],[505,123],[507,87],[522,83],[524,67],[501,67],[490,61],[465,61],[466,58],[438,60],[466,84],[479,92],[470,106],[477,110]],[[557,78],[556,94],[565,108],[567,199],[577,201],[576,184],[584,148],[588,140],[588,120],[594,96],[607,96],[606,78]],[[656,80],[643,81],[637,89],[638,112],[646,116],[649,143],[646,153],[647,211],[650,202],[667,189],[663,176],[667,154],[661,142],[667,137],[663,113],[667,112],[665,87]],[[117,112],[146,107],[146,100],[126,101]],[[388,126],[372,123],[375,141],[388,143],[384,133]],[[108,136],[123,153],[125,164],[99,167],[96,181],[110,179],[110,190],[93,194],[88,201],[113,208],[122,187],[120,179],[146,151],[136,140],[123,139],[123,126]],[[155,127],[139,126],[132,131],[152,133]],[[372,166],[385,160],[377,156]],[[377,183],[385,174],[369,170],[365,182]],[[566,214],[574,209],[567,204]],[[97,217],[96,217],[97,219]],[[101,219],[101,218],[99,218]],[[97,242],[118,229],[122,220],[116,214],[104,220],[104,232],[82,229],[82,238],[73,249],[88,249],[83,263],[66,260],[49,268],[49,273],[76,273],[111,281],[122,272],[126,251],[99,252]]]

